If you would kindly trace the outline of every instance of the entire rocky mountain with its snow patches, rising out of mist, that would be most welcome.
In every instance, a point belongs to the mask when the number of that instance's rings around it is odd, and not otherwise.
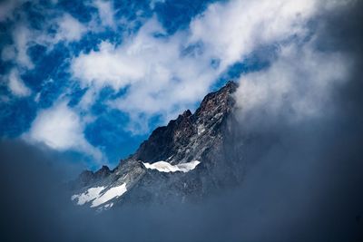
[[[242,179],[240,138],[233,116],[235,82],[204,97],[167,126],[152,131],[134,154],[113,170],[83,171],[72,199],[97,209],[123,203],[181,201],[211,196]]]

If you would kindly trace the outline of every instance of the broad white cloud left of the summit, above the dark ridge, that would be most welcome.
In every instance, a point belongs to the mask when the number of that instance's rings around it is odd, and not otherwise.
[[[169,38],[154,36],[163,32],[161,24],[152,18],[121,46],[103,42],[99,51],[81,53],[74,58],[71,72],[83,87],[100,90],[110,86],[118,91],[130,86],[126,95],[109,103],[128,112],[134,126],[147,124],[147,118],[155,113],[169,119],[174,111],[200,99],[219,70],[212,69],[207,61],[181,56],[185,33]],[[130,129],[147,131],[147,125]]]

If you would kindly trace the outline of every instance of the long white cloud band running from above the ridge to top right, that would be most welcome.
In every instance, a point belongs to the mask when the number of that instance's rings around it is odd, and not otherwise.
[[[196,16],[190,29],[171,36],[162,36],[162,25],[152,17],[123,44],[103,42],[98,51],[75,57],[71,73],[95,92],[128,87],[108,103],[130,115],[131,131],[144,132],[150,117],[168,121],[190,108],[231,64],[260,46],[304,39],[311,31],[309,20],[326,6],[318,0],[217,3]],[[190,53],[182,53],[186,47]],[[220,64],[211,66],[213,59]],[[87,99],[88,105],[92,102]]]

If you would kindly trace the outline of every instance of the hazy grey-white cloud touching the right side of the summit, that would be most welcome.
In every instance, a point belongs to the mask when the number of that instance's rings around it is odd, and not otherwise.
[[[312,43],[283,46],[268,69],[240,78],[236,97],[243,123],[328,116],[334,111],[331,92],[347,80],[349,66],[347,56],[319,52]]]

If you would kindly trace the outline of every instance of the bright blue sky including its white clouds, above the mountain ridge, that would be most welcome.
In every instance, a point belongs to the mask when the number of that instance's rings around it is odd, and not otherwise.
[[[343,5],[254,2],[1,2],[0,136],[114,166],[224,82],[289,70],[281,60],[309,53],[316,16]]]

